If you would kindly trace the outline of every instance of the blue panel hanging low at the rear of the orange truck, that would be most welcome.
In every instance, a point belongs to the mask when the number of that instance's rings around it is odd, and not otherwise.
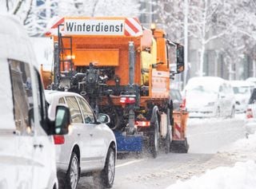
[[[118,152],[142,152],[142,135],[123,136],[122,132],[114,132]]]

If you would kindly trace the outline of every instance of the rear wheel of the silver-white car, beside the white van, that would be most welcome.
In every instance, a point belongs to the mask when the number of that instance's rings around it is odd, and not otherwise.
[[[69,169],[66,172],[66,178],[59,179],[59,188],[63,189],[76,189],[78,187],[79,180],[79,160],[75,152],[72,152],[70,158]]]

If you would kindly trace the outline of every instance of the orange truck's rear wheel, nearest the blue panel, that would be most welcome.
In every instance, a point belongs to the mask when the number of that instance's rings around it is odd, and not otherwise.
[[[158,150],[159,150],[159,123],[158,123],[158,116],[156,116],[156,119],[154,121],[154,133],[150,137],[150,150],[153,158],[156,158],[158,156]]]

